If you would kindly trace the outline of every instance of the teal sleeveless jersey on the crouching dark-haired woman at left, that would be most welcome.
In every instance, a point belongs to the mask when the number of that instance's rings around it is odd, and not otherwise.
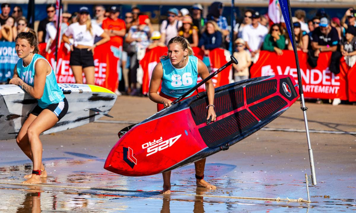
[[[22,59],[19,59],[16,65],[17,68],[16,70],[17,70],[17,74],[19,75],[19,78],[21,78],[23,82],[27,83],[32,87],[35,78],[35,63],[37,59],[45,59],[45,58],[40,54],[34,54],[31,63],[28,66],[26,67],[23,66]],[[38,106],[41,107],[42,109],[45,109],[46,107],[48,107],[48,105],[59,103],[63,99],[64,99],[63,92],[58,87],[56,75],[54,74],[54,71],[52,69],[51,73],[49,73],[46,76],[46,84],[45,84],[45,89],[43,91],[43,95],[40,99],[37,100]]]

